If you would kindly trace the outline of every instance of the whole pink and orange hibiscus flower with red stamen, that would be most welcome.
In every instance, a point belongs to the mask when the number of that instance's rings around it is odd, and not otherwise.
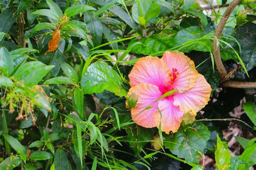
[[[131,94],[138,97],[131,108],[133,121],[169,134],[177,132],[185,115],[195,116],[210,100],[211,86],[194,62],[181,52],[166,51],[162,58],[143,57],[129,74]],[[163,96],[173,91],[169,96]]]

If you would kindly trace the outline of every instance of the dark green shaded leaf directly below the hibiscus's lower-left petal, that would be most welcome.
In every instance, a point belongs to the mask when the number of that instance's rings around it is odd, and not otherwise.
[[[142,151],[142,148],[147,142],[152,140],[154,135],[154,132],[150,128],[144,128],[138,125],[131,125],[125,128],[125,131],[128,134],[127,140],[136,155]]]

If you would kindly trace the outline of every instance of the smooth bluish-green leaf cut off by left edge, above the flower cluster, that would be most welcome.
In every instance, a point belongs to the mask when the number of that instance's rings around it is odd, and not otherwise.
[[[10,75],[14,70],[14,61],[4,46],[0,47],[0,70],[5,75]]]

